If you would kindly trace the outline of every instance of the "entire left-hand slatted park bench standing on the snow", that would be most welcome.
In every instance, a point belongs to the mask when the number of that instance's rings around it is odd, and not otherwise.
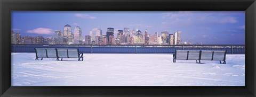
[[[36,51],[36,60],[38,58],[78,58],[78,61],[82,58],[83,61],[83,53],[79,52],[78,49],[57,49],[57,48],[35,48]]]

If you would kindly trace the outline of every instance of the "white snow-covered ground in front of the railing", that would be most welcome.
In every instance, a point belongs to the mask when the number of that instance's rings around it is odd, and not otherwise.
[[[12,86],[245,85],[245,55],[227,55],[227,64],[172,59],[172,54],[84,54],[84,61],[57,61],[12,53]]]

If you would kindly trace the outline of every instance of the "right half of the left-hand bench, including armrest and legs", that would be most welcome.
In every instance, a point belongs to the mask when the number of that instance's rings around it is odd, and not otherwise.
[[[79,49],[63,49],[63,48],[57,48],[56,49],[57,54],[58,54],[58,58],[57,60],[59,60],[59,58],[78,58],[78,61],[80,61],[80,59],[82,58],[83,61],[83,53],[79,52]]]

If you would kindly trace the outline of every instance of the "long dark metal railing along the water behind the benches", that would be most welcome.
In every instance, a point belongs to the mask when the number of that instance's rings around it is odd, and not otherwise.
[[[84,53],[173,53],[175,50],[226,50],[245,54],[245,45],[11,45],[12,52],[35,52],[35,48],[78,48]]]

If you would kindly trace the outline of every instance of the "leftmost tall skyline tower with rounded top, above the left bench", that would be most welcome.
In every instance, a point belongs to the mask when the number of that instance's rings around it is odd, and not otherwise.
[[[63,38],[66,38],[65,44],[69,44],[70,42],[73,42],[72,29],[71,29],[71,26],[68,24],[64,26]]]

